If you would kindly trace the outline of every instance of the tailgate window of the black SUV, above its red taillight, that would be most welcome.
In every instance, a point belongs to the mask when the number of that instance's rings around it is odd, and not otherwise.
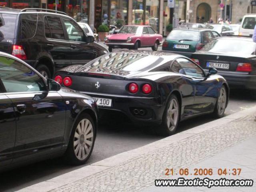
[[[17,14],[0,13],[0,38],[14,38]]]

